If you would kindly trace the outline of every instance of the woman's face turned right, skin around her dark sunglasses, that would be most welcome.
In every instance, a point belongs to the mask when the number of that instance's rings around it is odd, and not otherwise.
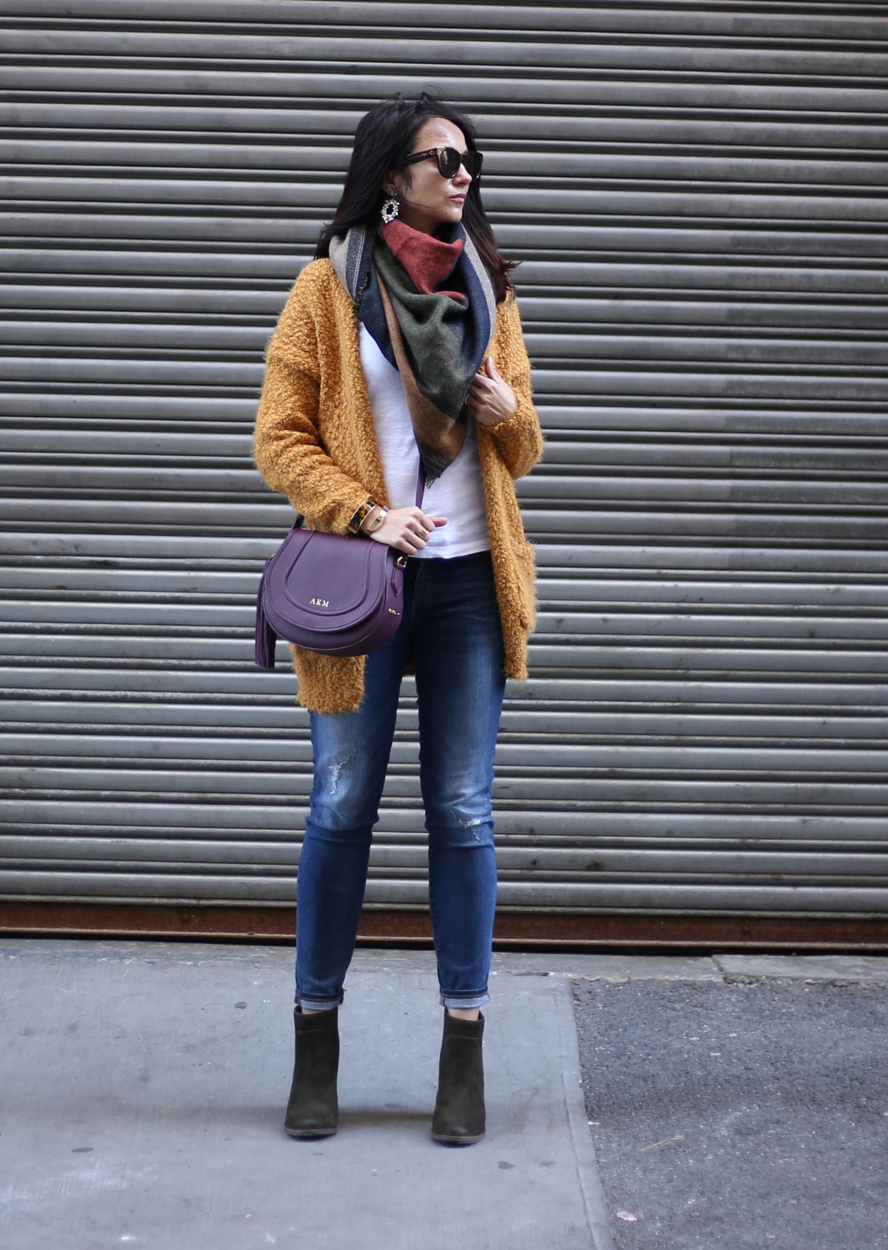
[[[421,152],[427,148],[456,148],[458,152],[465,152],[466,136],[452,121],[432,118],[420,126],[411,151]],[[416,165],[392,170],[383,190],[398,198],[398,216],[402,221],[413,230],[435,234],[438,226],[462,219],[462,206],[471,181],[465,165],[460,165],[453,178],[442,178],[437,161],[430,156]]]

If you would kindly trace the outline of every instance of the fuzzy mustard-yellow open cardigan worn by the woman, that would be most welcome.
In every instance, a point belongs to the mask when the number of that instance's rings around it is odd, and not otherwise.
[[[523,678],[527,636],[533,629],[533,549],[525,539],[513,479],[540,459],[542,435],[518,308],[511,298],[497,306],[490,355],[518,398],[508,420],[478,424],[477,435],[505,668],[507,676]],[[254,444],[256,466],[310,529],[347,534],[365,499],[386,502],[386,485],[361,369],[358,320],[330,260],[313,260],[300,274],[266,361]],[[363,656],[291,650],[298,701],[305,708],[338,712],[358,706]]]

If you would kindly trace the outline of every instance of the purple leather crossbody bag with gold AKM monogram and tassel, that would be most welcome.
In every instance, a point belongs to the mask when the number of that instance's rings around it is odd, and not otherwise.
[[[422,506],[422,472],[416,506]],[[256,664],[275,668],[279,638],[323,655],[368,655],[401,624],[407,558],[386,542],[302,529],[269,560],[256,599]]]

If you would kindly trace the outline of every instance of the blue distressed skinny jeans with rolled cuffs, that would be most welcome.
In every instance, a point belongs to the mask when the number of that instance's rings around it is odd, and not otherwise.
[[[403,619],[395,638],[367,656],[361,706],[311,714],[315,780],[296,906],[296,999],[310,1009],[342,1001],[408,659],[416,671],[441,1001],[452,1008],[488,1001],[496,904],[491,785],[505,676],[493,570],[483,551],[408,560]]]

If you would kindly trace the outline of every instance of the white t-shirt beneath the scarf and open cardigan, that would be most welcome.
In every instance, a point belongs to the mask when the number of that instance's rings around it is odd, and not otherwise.
[[[410,508],[416,502],[420,451],[401,374],[388,364],[363,325],[360,346],[388,506]],[[446,516],[447,524],[436,529],[422,551],[416,552],[418,559],[437,556],[448,560],[490,550],[478,441],[472,418],[468,419],[466,441],[460,455],[426,488],[422,511],[426,516]]]

